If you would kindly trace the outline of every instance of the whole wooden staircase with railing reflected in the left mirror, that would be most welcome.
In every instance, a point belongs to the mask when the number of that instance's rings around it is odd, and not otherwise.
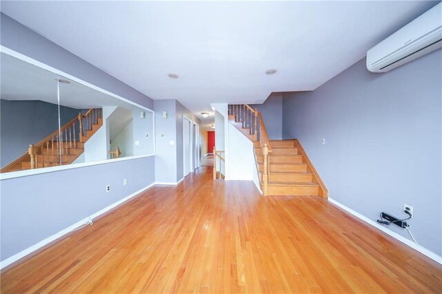
[[[1,168],[0,173],[72,164],[84,153],[86,141],[103,125],[102,114],[102,108],[90,108],[84,115],[80,112],[60,130],[30,144],[26,153]]]

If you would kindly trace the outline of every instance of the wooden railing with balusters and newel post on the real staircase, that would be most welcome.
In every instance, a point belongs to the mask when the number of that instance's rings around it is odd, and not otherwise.
[[[247,104],[230,104],[229,114],[236,115],[236,120],[241,121],[244,128],[250,128],[250,135],[252,135],[260,143],[261,154],[264,157],[262,171],[262,194],[267,196],[270,173],[269,154],[271,153],[271,144],[261,112],[258,111],[258,108],[253,110],[253,108]]]

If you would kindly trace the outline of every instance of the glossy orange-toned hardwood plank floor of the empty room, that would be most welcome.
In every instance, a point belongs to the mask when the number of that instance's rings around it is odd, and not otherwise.
[[[202,167],[1,273],[1,293],[441,293],[442,266],[320,197]]]

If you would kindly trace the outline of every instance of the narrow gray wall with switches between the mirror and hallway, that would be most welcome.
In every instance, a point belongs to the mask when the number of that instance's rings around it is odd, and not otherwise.
[[[177,182],[175,100],[155,100],[155,181]],[[168,117],[162,117],[163,111]],[[161,137],[164,133],[164,137]],[[173,145],[170,144],[173,141]]]

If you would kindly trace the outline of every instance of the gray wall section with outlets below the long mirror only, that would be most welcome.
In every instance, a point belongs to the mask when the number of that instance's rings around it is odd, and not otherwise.
[[[155,182],[153,168],[146,168],[154,160],[143,157],[2,180],[1,260]],[[111,191],[106,193],[108,184]]]

